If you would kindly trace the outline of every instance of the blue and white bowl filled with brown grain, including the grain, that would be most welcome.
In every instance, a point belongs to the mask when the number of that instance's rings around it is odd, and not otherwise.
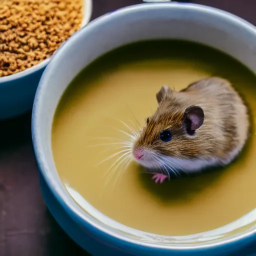
[[[51,55],[91,12],[92,0],[0,1],[0,119],[31,109]]]

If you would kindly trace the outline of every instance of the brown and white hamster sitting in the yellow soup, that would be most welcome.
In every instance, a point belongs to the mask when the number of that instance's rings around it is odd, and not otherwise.
[[[249,129],[247,108],[229,81],[210,77],[181,91],[164,85],[156,99],[155,113],[132,145],[134,159],[156,170],[156,183],[170,171],[226,165],[243,148]]]

